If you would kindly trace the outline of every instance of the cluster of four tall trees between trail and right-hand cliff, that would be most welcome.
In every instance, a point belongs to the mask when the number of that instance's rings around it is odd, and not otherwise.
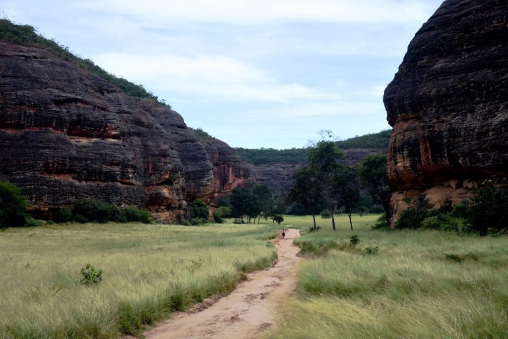
[[[334,213],[340,208],[349,217],[361,206],[361,191],[367,190],[372,201],[379,203],[385,210],[386,221],[391,218],[386,155],[371,154],[361,164],[342,165],[344,151],[333,141],[321,140],[307,148],[307,165],[295,171],[295,182],[285,201],[298,203],[312,213],[316,229],[316,207],[325,203],[335,230]]]

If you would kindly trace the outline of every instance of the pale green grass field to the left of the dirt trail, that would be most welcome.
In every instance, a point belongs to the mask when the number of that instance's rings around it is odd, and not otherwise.
[[[269,266],[272,225],[70,224],[0,231],[0,337],[139,334]],[[81,285],[87,263],[104,281]]]

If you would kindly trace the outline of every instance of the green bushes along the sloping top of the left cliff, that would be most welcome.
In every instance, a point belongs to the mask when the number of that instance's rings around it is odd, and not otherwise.
[[[156,105],[164,105],[171,108],[164,100],[159,100],[153,93],[147,91],[143,85],[137,85],[124,78],[110,74],[94,64],[92,60],[74,55],[69,50],[69,47],[42,36],[37,32],[36,27],[16,24],[7,18],[0,18],[0,41],[47,49],[56,56],[72,61],[82,69],[101,77],[136,100],[148,101]]]

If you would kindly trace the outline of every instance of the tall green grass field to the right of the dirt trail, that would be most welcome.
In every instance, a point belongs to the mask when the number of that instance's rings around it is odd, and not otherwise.
[[[303,229],[312,223],[293,218],[286,221]],[[307,259],[268,337],[508,337],[508,238],[371,231],[359,222],[350,231],[338,219],[335,232],[327,225],[295,239]],[[352,234],[362,240],[356,246]],[[365,253],[375,246],[377,255]]]

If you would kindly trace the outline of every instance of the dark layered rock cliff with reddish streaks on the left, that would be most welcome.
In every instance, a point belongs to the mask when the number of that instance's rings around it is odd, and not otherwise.
[[[47,50],[0,43],[0,75],[0,180],[18,183],[38,217],[92,198],[171,221],[185,200],[249,178],[223,155],[229,146],[217,140],[210,156],[175,111],[136,101]]]

